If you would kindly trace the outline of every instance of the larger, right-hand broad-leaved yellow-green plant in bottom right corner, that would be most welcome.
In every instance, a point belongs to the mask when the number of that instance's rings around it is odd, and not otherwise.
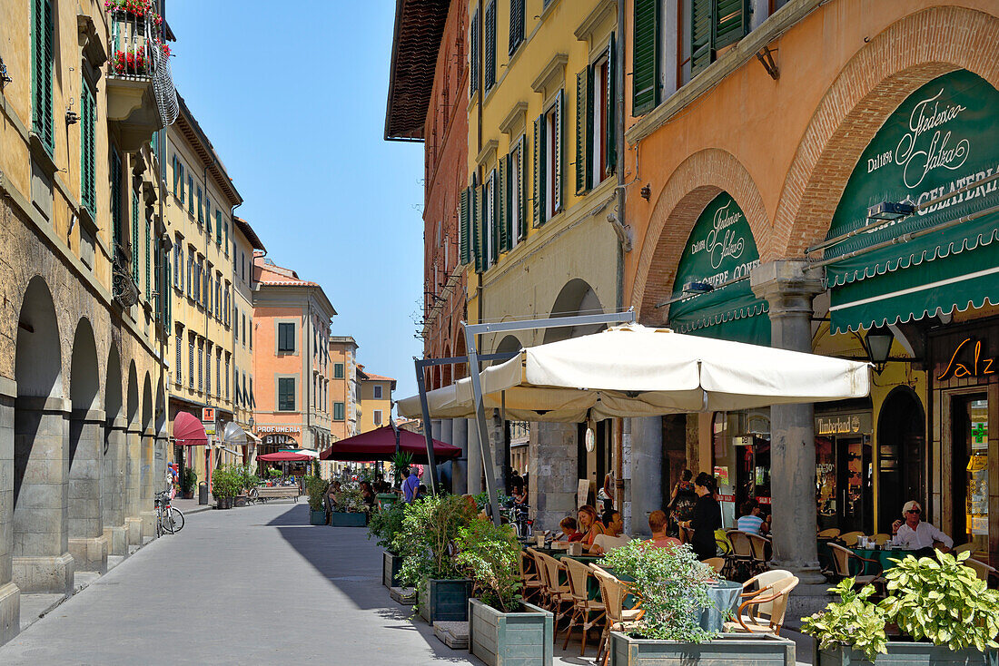
[[[990,590],[974,569],[970,552],[895,560],[884,572],[889,596],[881,602],[888,620],[915,640],[951,650],[999,648],[999,591]]]

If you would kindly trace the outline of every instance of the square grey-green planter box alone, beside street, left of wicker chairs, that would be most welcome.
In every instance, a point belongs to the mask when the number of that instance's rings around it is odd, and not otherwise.
[[[551,666],[553,616],[523,604],[518,613],[500,613],[469,599],[469,651],[489,666]]]

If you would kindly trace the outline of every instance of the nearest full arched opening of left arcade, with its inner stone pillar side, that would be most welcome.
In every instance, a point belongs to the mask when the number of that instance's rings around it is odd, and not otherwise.
[[[13,579],[22,592],[72,593],[65,511],[66,420],[55,306],[34,278],[21,305],[14,364]],[[38,508],[44,507],[44,508]]]

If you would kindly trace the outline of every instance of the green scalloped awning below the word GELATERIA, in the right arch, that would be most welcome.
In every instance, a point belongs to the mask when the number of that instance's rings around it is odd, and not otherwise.
[[[999,305],[999,243],[951,253],[832,290],[832,333]]]

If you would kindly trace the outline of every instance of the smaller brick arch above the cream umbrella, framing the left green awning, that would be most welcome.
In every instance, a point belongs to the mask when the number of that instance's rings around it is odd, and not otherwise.
[[[672,294],[676,267],[690,230],[704,208],[720,192],[732,196],[752,230],[760,258],[768,256],[770,224],[756,184],[745,167],[723,150],[694,153],[670,175],[655,200],[631,289],[638,321],[661,324],[655,304]]]

